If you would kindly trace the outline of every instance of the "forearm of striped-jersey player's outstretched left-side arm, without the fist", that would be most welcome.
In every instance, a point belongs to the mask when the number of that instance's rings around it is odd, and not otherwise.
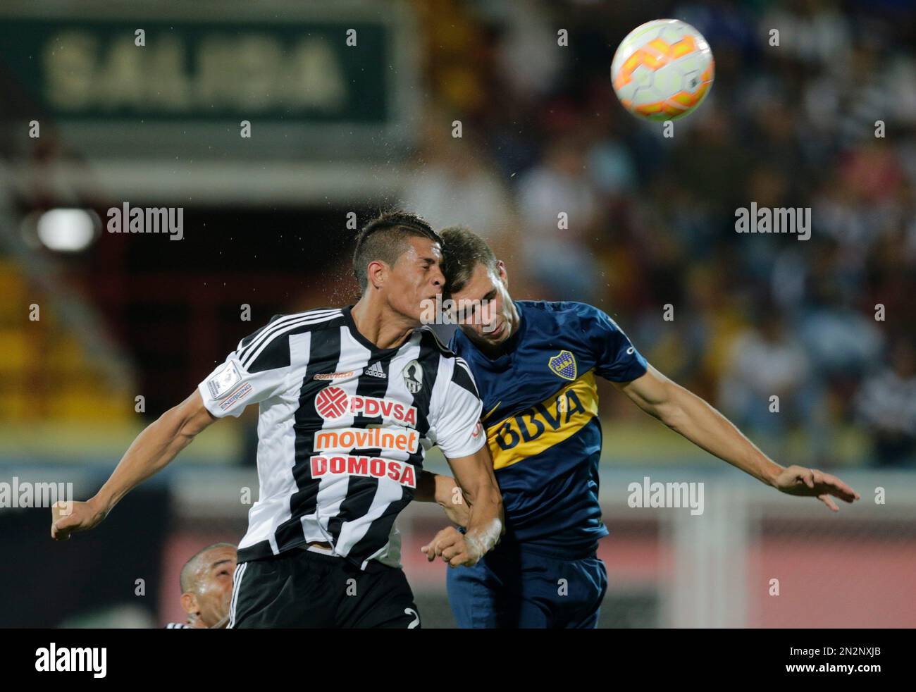
[[[163,413],[136,436],[111,478],[90,501],[107,514],[130,490],[168,466],[195,434],[179,407]]]

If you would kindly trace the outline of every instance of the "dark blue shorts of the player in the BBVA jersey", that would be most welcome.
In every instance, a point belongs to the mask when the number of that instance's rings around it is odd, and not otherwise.
[[[475,566],[446,571],[463,629],[594,628],[607,590],[597,555],[562,560],[500,544]]]

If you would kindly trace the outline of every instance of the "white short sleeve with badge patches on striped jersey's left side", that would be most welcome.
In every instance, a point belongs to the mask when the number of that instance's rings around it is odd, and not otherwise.
[[[266,401],[285,389],[289,375],[289,339],[271,337],[266,329],[242,339],[197,386],[203,405],[217,418],[238,418],[245,406]]]

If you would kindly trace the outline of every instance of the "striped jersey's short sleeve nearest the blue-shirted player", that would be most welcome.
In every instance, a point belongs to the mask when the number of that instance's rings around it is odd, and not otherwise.
[[[471,369],[455,358],[452,379],[445,391],[443,409],[436,425],[436,444],[448,459],[471,456],[486,443],[480,413],[484,404],[477,393]]]

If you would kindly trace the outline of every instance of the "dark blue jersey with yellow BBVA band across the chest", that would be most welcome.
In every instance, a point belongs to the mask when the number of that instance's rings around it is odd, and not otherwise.
[[[607,529],[598,504],[601,423],[594,377],[628,382],[646,359],[614,320],[582,302],[517,301],[518,331],[486,357],[459,330],[484,401],[507,535],[545,555],[588,555]]]

